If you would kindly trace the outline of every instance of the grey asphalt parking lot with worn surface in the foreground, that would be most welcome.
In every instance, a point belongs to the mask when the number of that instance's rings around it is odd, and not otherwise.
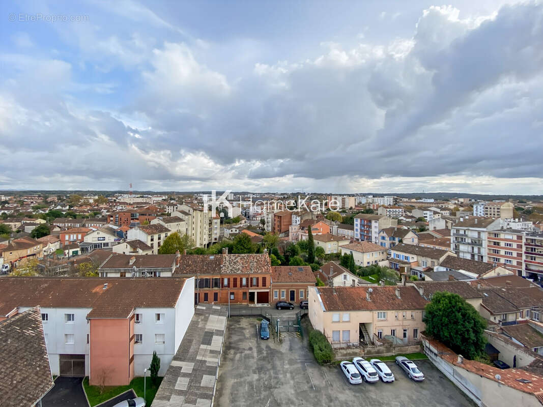
[[[282,342],[260,340],[258,319],[230,318],[226,327],[215,405],[274,406],[453,406],[472,407],[430,361],[416,361],[425,381],[415,383],[387,362],[394,383],[351,385],[339,366],[319,366],[294,334]]]

